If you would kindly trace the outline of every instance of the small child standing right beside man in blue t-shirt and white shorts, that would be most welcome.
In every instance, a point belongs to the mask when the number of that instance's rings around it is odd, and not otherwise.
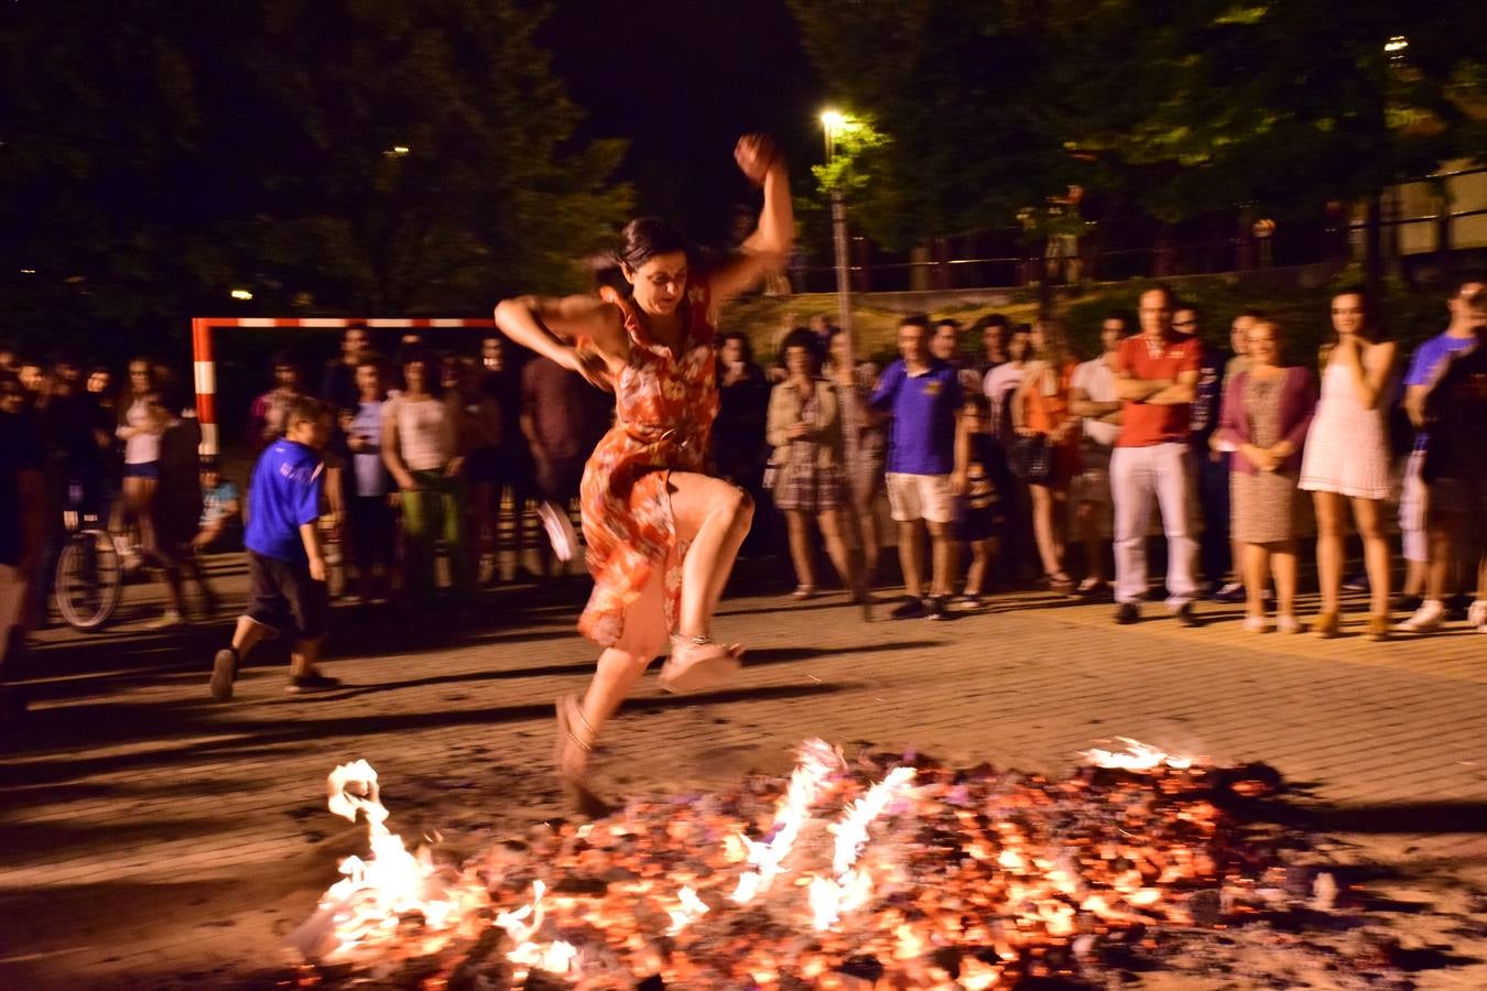
[[[958,539],[971,545],[971,566],[965,575],[965,594],[961,605],[967,609],[981,608],[986,591],[986,572],[996,554],[996,544],[1007,523],[1002,508],[1007,458],[990,434],[990,401],[972,392],[967,395],[961,410],[961,429],[956,446],[956,464],[965,465],[965,474],[952,478],[961,501]]]

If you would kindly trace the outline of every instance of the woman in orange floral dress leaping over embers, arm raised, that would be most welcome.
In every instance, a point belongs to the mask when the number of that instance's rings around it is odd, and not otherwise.
[[[741,645],[712,639],[712,614],[754,505],[703,474],[718,412],[712,336],[718,308],[784,264],[794,241],[790,184],[775,146],[739,140],[739,168],[764,190],[742,251],[693,270],[666,221],[626,224],[616,253],[626,291],[503,300],[495,322],[519,345],[616,392],[616,423],[595,447],[580,492],[593,594],[578,630],[604,648],[583,701],[558,700],[558,776],[584,811],[595,738],[653,657],[668,691],[696,691],[739,667]]]

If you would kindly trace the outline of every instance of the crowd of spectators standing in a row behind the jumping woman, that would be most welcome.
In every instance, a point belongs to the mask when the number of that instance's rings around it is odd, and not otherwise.
[[[962,328],[909,316],[882,371],[851,360],[824,315],[784,328],[773,367],[748,336],[724,334],[712,468],[778,510],[760,514],[745,554],[788,556],[791,594],[810,599],[828,584],[824,548],[865,603],[886,578],[886,501],[895,618],[946,620],[1041,584],[1112,597],[1129,624],[1151,597],[1160,529],[1166,605],[1185,626],[1210,597],[1245,603],[1245,630],[1335,636],[1353,588],[1370,594],[1373,639],[1462,620],[1487,633],[1487,281],[1454,285],[1447,328],[1408,363],[1362,290],[1332,296],[1332,340],[1315,365],[1288,364],[1285,328],[1264,313],[1236,313],[1219,334],[1167,288],[1135,302],[1135,313],[1105,316],[1084,361],[1056,318]],[[552,361],[519,360],[497,336],[477,354],[437,352],[416,334],[384,352],[375,343],[348,328],[314,394],[299,355],[275,354],[241,437],[257,458],[306,409],[324,412],[318,529],[345,594],[431,621],[470,611],[480,587],[568,571],[578,481],[613,397]],[[62,510],[97,517],[128,568],[164,578],[159,626],[187,621],[187,584],[213,609],[198,557],[242,548],[254,483],[242,472],[239,489],[198,459],[192,395],[170,365],[138,357],[116,383],[74,355],[0,348],[0,514],[13,522],[0,585],[27,587],[24,606],[7,594],[18,620],[48,621]],[[39,541],[24,539],[28,513]],[[1350,530],[1362,547],[1352,575]],[[1320,608],[1304,624],[1298,557],[1312,533]]]

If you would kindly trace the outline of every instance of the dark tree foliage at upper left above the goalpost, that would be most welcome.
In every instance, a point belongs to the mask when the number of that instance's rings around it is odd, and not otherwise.
[[[572,141],[520,0],[10,6],[12,322],[178,325],[232,287],[257,312],[480,312],[577,284],[629,207],[623,144]]]

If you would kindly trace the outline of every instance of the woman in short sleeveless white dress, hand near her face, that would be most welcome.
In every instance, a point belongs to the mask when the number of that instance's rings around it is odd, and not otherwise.
[[[1322,611],[1312,621],[1317,636],[1337,636],[1343,584],[1347,504],[1364,538],[1370,611],[1364,633],[1389,637],[1389,541],[1381,519],[1389,498],[1389,434],[1384,419],[1395,345],[1378,340],[1374,312],[1362,290],[1332,297],[1337,342],[1322,349],[1322,400],[1301,459],[1303,490],[1316,505],[1316,571]]]

